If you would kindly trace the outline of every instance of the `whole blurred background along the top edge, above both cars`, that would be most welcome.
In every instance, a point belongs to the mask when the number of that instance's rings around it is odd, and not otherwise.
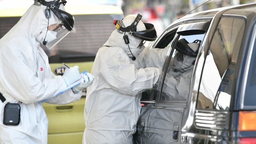
[[[0,8],[6,6],[31,5],[33,0],[0,0]],[[137,13],[143,15],[142,21],[153,23],[157,34],[160,35],[164,29],[173,21],[177,20],[187,12],[208,0],[69,0],[67,4],[107,4],[120,7],[124,16]],[[211,0],[196,10],[190,12],[201,12],[209,9],[256,2],[256,0]]]

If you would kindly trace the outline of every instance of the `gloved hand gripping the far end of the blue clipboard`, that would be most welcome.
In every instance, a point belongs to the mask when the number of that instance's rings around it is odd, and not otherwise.
[[[93,80],[94,80],[94,76],[92,76],[92,74],[90,74],[90,73],[87,73],[87,76],[82,75],[81,84],[79,84],[73,88],[74,92],[79,92],[79,91],[83,90],[84,88],[90,86],[92,84]]]

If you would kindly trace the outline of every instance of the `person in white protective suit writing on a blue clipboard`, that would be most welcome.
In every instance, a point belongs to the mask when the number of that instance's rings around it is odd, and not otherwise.
[[[63,76],[53,75],[39,45],[52,48],[72,30],[75,21],[64,10],[65,0],[40,3],[31,5],[0,39],[0,92],[6,99],[0,101],[0,144],[47,144],[48,120],[38,102],[49,98],[46,102],[52,104],[79,100],[81,90],[93,81],[89,73],[81,76],[77,66],[66,69]],[[81,84],[73,90],[53,97],[79,79]],[[18,125],[3,124],[7,102],[20,104]]]

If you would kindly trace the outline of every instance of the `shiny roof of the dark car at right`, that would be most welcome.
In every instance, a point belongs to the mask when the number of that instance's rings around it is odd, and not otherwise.
[[[211,10],[207,10],[207,11],[203,11],[203,12],[192,13],[192,14],[186,15],[178,20],[175,20],[171,25],[180,23],[185,20],[194,19],[197,17],[214,17],[220,11],[227,11],[227,10],[232,10],[232,9],[240,9],[240,11],[244,10],[244,11],[256,12],[256,3],[226,6],[226,7],[211,9]]]

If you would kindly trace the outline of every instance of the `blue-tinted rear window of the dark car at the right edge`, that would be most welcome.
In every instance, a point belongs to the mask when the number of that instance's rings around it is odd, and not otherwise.
[[[255,30],[254,30],[254,33],[255,33]],[[245,107],[252,108],[256,106],[255,93],[256,93],[256,39],[254,39],[252,56],[251,56],[248,76],[246,80],[246,88],[245,88],[245,94],[244,94]]]

